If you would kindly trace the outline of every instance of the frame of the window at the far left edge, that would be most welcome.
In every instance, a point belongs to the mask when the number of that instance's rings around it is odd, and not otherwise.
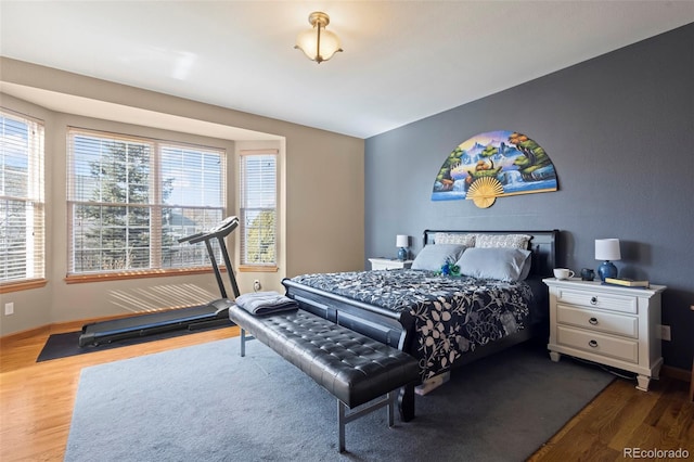
[[[21,123],[26,127],[27,141],[26,150],[23,155],[26,156],[26,194],[23,196],[0,196],[1,201],[24,202],[25,207],[30,208],[31,216],[25,216],[25,230],[31,230],[31,239],[27,240],[28,233],[25,232],[25,241],[27,247],[27,256],[33,256],[24,260],[24,278],[1,279],[0,294],[10,292],[25,291],[30,288],[42,287],[48,283],[47,271],[47,249],[46,249],[46,124],[43,120],[31,116],[12,111],[7,107],[0,107],[0,115],[3,119],[12,119]],[[4,124],[3,124],[4,126]],[[3,137],[4,144],[4,137]],[[12,145],[8,145],[12,147]],[[4,165],[4,164],[3,164]],[[0,175],[5,175],[4,167]],[[7,191],[7,190],[5,190]],[[30,207],[29,207],[30,205]],[[27,227],[28,219],[31,219],[31,226]],[[9,252],[9,247],[7,249]],[[7,255],[2,255],[5,261],[9,260]],[[31,269],[29,270],[29,266]]]

